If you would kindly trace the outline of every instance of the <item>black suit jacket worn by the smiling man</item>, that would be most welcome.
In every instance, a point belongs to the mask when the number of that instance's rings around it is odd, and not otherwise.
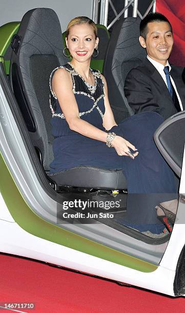
[[[185,109],[183,68],[174,65],[171,65],[171,68],[170,75],[175,82],[183,109]],[[165,81],[147,58],[140,66],[128,73],[124,91],[135,114],[154,111],[167,119],[177,112]]]

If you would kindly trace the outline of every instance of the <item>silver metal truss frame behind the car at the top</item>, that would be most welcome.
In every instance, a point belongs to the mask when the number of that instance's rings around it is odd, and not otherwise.
[[[101,1],[101,8],[100,8],[100,24],[104,25],[107,27],[107,29],[109,30],[110,27],[112,27],[112,25],[120,18],[120,16],[122,14],[124,14],[124,17],[128,16],[128,8],[130,6],[133,7],[133,17],[137,17],[140,16],[141,19],[143,19],[148,13],[149,11],[152,9],[152,12],[155,12],[155,0],[152,0],[151,4],[149,5],[148,9],[146,10],[145,14],[142,15],[140,13],[140,11],[138,11],[137,6],[138,6],[138,0],[125,0],[125,4],[124,4],[124,8],[121,10],[121,12],[117,12],[112,4],[111,0],[100,0]],[[94,1],[94,3],[96,2],[96,0]],[[109,5],[111,6],[114,14],[115,14],[115,18],[111,21],[111,23],[109,25],[107,25],[107,20],[108,20],[108,7]],[[94,19],[95,20],[95,19]],[[95,20],[96,22],[96,20]]]

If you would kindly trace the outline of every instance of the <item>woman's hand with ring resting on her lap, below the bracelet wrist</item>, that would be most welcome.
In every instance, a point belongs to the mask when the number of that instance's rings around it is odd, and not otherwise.
[[[126,155],[126,152],[130,152],[130,148],[135,151],[137,150],[129,141],[125,140],[120,136],[115,136],[115,138],[111,142],[114,149],[117,151],[118,155]],[[138,152],[133,153],[133,157],[136,157]],[[134,159],[134,158],[133,158]]]

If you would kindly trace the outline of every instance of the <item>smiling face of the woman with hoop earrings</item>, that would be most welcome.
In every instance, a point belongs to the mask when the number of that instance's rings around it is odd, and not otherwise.
[[[94,30],[88,24],[72,26],[65,40],[72,57],[78,62],[90,59],[99,42],[99,38],[95,39]]]

